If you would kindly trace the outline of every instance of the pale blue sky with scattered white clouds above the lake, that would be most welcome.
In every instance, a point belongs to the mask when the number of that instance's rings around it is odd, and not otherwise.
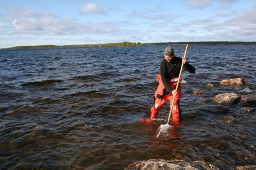
[[[0,48],[256,41],[255,0],[0,1]]]

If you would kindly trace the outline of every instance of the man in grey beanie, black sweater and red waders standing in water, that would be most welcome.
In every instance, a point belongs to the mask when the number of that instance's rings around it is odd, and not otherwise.
[[[184,69],[188,72],[194,73],[195,67],[187,62],[186,58],[178,58],[174,56],[174,49],[167,46],[164,52],[165,59],[160,63],[160,74],[157,75],[159,85],[155,91],[154,104],[151,107],[151,116],[147,121],[153,121],[157,118],[159,110],[163,107],[167,100],[172,103],[173,97],[176,94],[172,115],[174,123],[181,121],[181,110],[179,100],[181,98],[181,86],[179,83],[178,90],[176,85],[179,78],[182,61],[184,62]],[[181,80],[180,80],[181,82]]]

